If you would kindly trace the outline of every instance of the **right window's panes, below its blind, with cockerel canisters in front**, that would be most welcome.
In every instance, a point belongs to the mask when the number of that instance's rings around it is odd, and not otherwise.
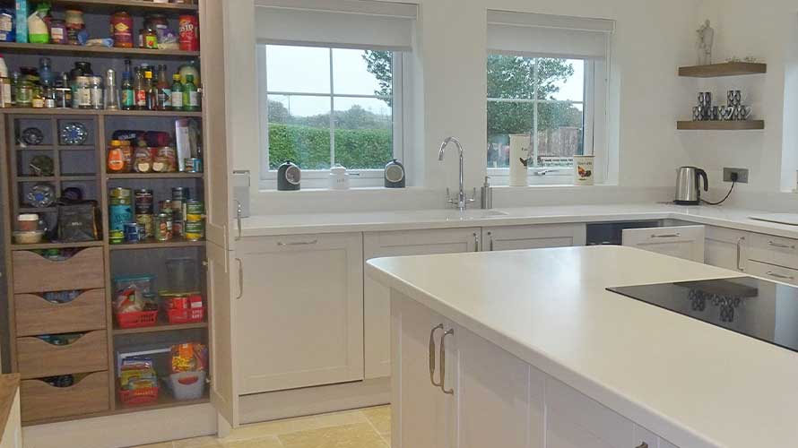
[[[569,175],[563,168],[573,156],[593,154],[592,142],[585,145],[591,71],[583,59],[489,55],[488,168],[509,167],[511,134],[533,136],[528,168],[541,175]]]

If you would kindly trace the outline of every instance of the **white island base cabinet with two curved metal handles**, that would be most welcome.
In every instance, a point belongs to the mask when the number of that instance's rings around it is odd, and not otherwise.
[[[411,298],[391,294],[394,448],[676,448]]]

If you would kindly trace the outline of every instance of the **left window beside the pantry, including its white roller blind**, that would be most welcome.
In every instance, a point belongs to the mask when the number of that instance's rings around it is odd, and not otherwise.
[[[403,76],[415,4],[369,0],[256,0],[261,187],[291,159],[303,187],[348,168],[353,186],[383,184],[409,134]],[[408,126],[409,127],[409,126]]]

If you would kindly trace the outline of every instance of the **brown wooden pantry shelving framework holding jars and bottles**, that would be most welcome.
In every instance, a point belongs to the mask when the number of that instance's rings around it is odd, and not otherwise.
[[[215,12],[213,16],[221,13],[221,0],[197,0],[201,4],[174,4],[174,3],[154,3],[144,0],[51,0],[54,15],[62,18],[66,8],[79,8],[83,11],[87,29],[97,35],[92,38],[108,37],[100,35],[99,30],[108,32],[108,21],[110,15],[120,10],[125,10],[134,16],[138,23],[143,21],[143,16],[148,13],[163,14],[168,18],[170,26],[174,28],[177,18],[182,14],[198,14],[208,8]],[[212,4],[213,7],[207,6]],[[221,14],[219,14],[221,15]],[[200,17],[204,22],[204,17]],[[212,19],[215,21],[215,19]],[[221,27],[208,25],[204,34],[203,42],[208,39],[221,39]],[[214,33],[216,33],[214,37]],[[213,47],[213,46],[208,46]],[[96,74],[105,73],[109,68],[117,71],[121,78],[121,67],[126,59],[133,61],[134,65],[150,64],[168,65],[169,73],[178,71],[178,66],[185,64],[195,64],[195,67],[202,73],[202,79],[213,80],[212,85],[218,86],[220,83],[207,70],[219,70],[221,66],[221,53],[216,48],[212,54],[214,58],[210,63],[203,60],[204,53],[201,51],[182,51],[182,50],[152,50],[144,48],[117,48],[117,47],[81,47],[72,45],[56,44],[30,44],[17,42],[0,42],[0,53],[3,54],[6,65],[10,71],[17,70],[20,66],[37,65],[39,57],[46,56],[52,61],[53,71],[68,72],[74,66],[74,62],[85,60],[91,62],[93,72]],[[204,64],[213,64],[206,67]],[[117,81],[118,82],[118,81]],[[205,82],[207,84],[207,82]],[[199,86],[198,86],[199,87]],[[205,96],[212,96],[213,92],[205,92]],[[204,99],[204,97],[202,97]],[[202,99],[201,99],[202,100]],[[217,103],[218,104],[218,103]],[[109,227],[109,198],[108,189],[112,187],[124,188],[147,188],[152,189],[156,203],[160,200],[170,198],[172,187],[187,187],[190,189],[193,198],[200,201],[208,196],[206,179],[203,173],[108,173],[106,172],[106,147],[111,135],[117,130],[152,130],[158,132],[169,132],[174,134],[174,120],[178,118],[188,118],[196,123],[199,130],[199,142],[205,142],[204,123],[206,118],[204,111],[184,111],[184,110],[107,110],[107,109],[83,109],[83,108],[0,108],[0,211],[4,214],[3,231],[0,237],[3,238],[3,260],[6,266],[4,270],[8,272],[7,279],[7,302],[0,302],[0,306],[7,307],[9,316],[8,328],[11,336],[10,344],[5,350],[4,358],[8,354],[11,359],[13,372],[21,372],[26,377],[22,385],[22,424],[25,426],[37,425],[40,423],[65,421],[78,418],[91,418],[100,416],[113,416],[117,414],[133,413],[151,409],[170,409],[180,406],[188,406],[199,403],[209,402],[209,392],[205,387],[204,394],[197,400],[176,400],[167,387],[161,387],[158,401],[146,405],[127,405],[124,404],[117,392],[117,350],[135,349],[139,345],[152,346],[159,345],[169,348],[171,344],[182,342],[210,343],[208,334],[207,304],[208,286],[207,274],[204,271],[206,243],[204,240],[187,241],[185,239],[172,239],[169,241],[145,240],[137,244],[111,245],[108,240]],[[223,119],[223,116],[221,116]],[[88,137],[85,142],[78,145],[64,144],[59,135],[66,123],[78,122],[86,127]],[[44,141],[40,145],[23,145],[19,141],[19,135],[23,129],[28,127],[38,127],[44,134]],[[210,146],[210,145],[208,145]],[[215,148],[205,148],[204,150],[215,151]],[[223,151],[219,150],[219,151]],[[207,153],[207,152],[206,152]],[[38,155],[47,155],[53,161],[54,173],[52,176],[36,177],[30,171],[30,159]],[[49,174],[49,173],[48,173]],[[18,213],[38,213],[48,222],[49,228],[54,228],[58,215],[56,204],[47,207],[32,207],[24,200],[27,188],[37,183],[51,184],[56,194],[60,194],[66,186],[75,186],[82,190],[86,199],[97,201],[100,210],[100,239],[88,242],[58,242],[43,241],[39,244],[17,245],[13,244],[12,232],[15,226],[16,215]],[[73,263],[73,258],[66,258],[62,261],[39,260],[39,254],[43,251],[58,250],[62,254],[80,257],[82,254],[91,252],[92,272],[97,272],[101,278],[92,277],[91,285],[85,289],[75,288],[82,285],[81,279],[85,274],[78,274],[70,271],[71,266],[78,266]],[[145,252],[143,252],[145,251]],[[39,254],[31,254],[38,252]],[[27,257],[29,263],[21,265],[14,260]],[[160,316],[159,322],[152,327],[120,329],[115,326],[114,315],[112,312],[112,300],[115,297],[112,278],[118,275],[128,275],[137,273],[153,273],[157,279],[166,279],[168,270],[167,261],[173,258],[188,258],[194,260],[197,266],[197,284],[201,291],[204,301],[206,315],[204,322],[169,324],[165,316]],[[39,260],[37,270],[31,271],[32,261]],[[58,279],[50,279],[46,286],[39,289],[26,287],[25,291],[15,289],[19,280],[24,277],[27,279],[36,278],[42,274],[47,274],[48,270],[56,269],[63,272],[59,277],[64,280],[63,285]],[[72,273],[71,273],[72,272]],[[68,280],[68,281],[67,281]],[[27,285],[37,284],[28,282]],[[60,286],[59,286],[60,285]],[[69,288],[62,288],[68,286]],[[85,285],[83,285],[85,286]],[[156,283],[156,287],[159,284]],[[161,285],[163,286],[163,285]],[[30,290],[29,290],[30,289]],[[91,372],[86,371],[80,362],[74,364],[74,368],[65,368],[63,372],[80,378],[83,375],[91,376],[91,383],[78,387],[57,390],[40,381],[41,378],[31,376],[26,373],[27,368],[24,363],[20,364],[20,353],[17,346],[22,342],[30,343],[31,339],[39,344],[37,335],[16,334],[14,303],[15,295],[22,293],[29,297],[42,297],[46,293],[58,292],[62,290],[92,290],[96,296],[97,291],[101,291],[104,297],[104,328],[82,328],[80,323],[66,322],[58,328],[68,328],[69,332],[91,333],[91,339],[83,342],[83,345],[94,344],[97,342],[95,350],[92,351],[95,358],[101,358],[102,369],[98,372],[97,366],[91,366]],[[31,296],[32,295],[32,296]],[[2,298],[0,298],[2,300]],[[43,299],[42,299],[43,300]],[[57,311],[53,315],[58,315]],[[4,323],[3,323],[4,325]],[[44,326],[42,327],[44,328]],[[40,336],[40,335],[39,335]],[[101,342],[101,343],[100,343]],[[44,343],[39,345],[43,345]],[[100,353],[98,353],[100,352]],[[96,360],[96,359],[95,359]],[[79,360],[78,360],[79,361]],[[213,362],[213,360],[211,361]],[[160,364],[159,364],[160,363]],[[168,375],[168,363],[163,364],[162,360],[157,360],[156,370],[163,378]],[[103,381],[100,381],[100,378]],[[23,382],[23,383],[24,383]],[[47,407],[38,405],[37,413],[25,416],[26,405],[30,408],[30,401],[33,397],[26,396],[25,391],[39,391],[37,393],[54,393],[53,397],[76,394],[81,389],[92,388],[94,393],[95,405],[98,404],[97,384],[102,384],[100,392],[100,405],[92,406],[91,409],[82,409],[74,406],[74,409],[65,409],[60,406],[57,411],[51,411]],[[107,384],[107,385],[106,385]],[[74,392],[72,392],[74,390]],[[107,397],[107,399],[106,399]],[[68,397],[67,397],[68,398]],[[79,397],[74,400],[66,400],[66,403],[80,403]],[[41,403],[42,397],[35,397],[37,403]],[[68,408],[68,406],[66,406]],[[100,409],[99,409],[100,408]]]

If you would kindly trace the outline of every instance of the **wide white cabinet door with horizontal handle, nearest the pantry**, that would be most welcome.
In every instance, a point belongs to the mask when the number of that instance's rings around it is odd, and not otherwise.
[[[360,233],[245,238],[235,256],[241,394],[363,379]]]

